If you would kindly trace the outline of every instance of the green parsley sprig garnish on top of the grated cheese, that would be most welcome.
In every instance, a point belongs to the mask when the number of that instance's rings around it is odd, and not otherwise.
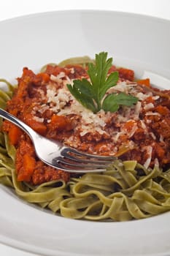
[[[120,105],[131,106],[138,101],[138,98],[121,92],[120,94],[108,94],[106,92],[112,86],[116,86],[119,78],[118,72],[112,72],[108,75],[110,67],[112,67],[112,58],[107,59],[107,53],[101,52],[96,54],[96,64],[88,64],[88,75],[90,82],[82,78],[82,80],[74,80],[73,86],[67,84],[71,94],[85,108],[97,113],[99,110],[115,112]]]

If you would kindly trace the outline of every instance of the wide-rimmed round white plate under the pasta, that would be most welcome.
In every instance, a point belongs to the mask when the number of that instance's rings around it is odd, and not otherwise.
[[[115,64],[170,79],[170,21],[123,12],[47,12],[0,23],[0,77],[107,51]],[[144,73],[145,72],[145,73]],[[156,76],[155,76],[156,78]],[[162,85],[160,85],[162,86]],[[42,255],[169,255],[170,213],[130,222],[65,219],[0,187],[0,241]]]

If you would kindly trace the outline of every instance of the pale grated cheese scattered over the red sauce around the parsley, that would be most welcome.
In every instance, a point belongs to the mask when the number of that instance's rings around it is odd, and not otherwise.
[[[71,73],[74,73],[74,69],[71,70]],[[107,91],[107,94],[111,93],[119,93],[123,92],[126,94],[131,94],[139,98],[139,101],[136,105],[132,105],[131,107],[121,106],[120,110],[117,110],[115,113],[107,112],[104,110],[100,110],[98,113],[93,113],[91,110],[86,109],[84,106],[80,104],[67,88],[67,84],[73,84],[74,79],[70,79],[65,72],[60,72],[57,76],[50,76],[50,83],[47,85],[47,92],[43,95],[46,103],[36,106],[34,109],[34,114],[36,113],[45,113],[46,110],[51,110],[53,113],[58,116],[69,116],[76,115],[79,116],[79,121],[77,122],[77,126],[74,128],[74,132],[77,132],[80,135],[80,138],[85,136],[87,133],[90,133],[95,136],[97,133],[102,135],[106,135],[109,140],[112,141],[112,154],[116,154],[119,150],[119,143],[121,144],[121,140],[123,135],[127,138],[125,142],[125,146],[133,149],[136,145],[131,138],[135,134],[136,130],[139,127],[144,129],[144,134],[152,138],[152,140],[156,140],[156,137],[153,132],[148,132],[147,124],[150,124],[150,120],[140,119],[140,113],[143,113],[142,110],[145,110],[145,116],[160,116],[159,113],[152,112],[155,106],[153,103],[148,103],[143,105],[142,101],[147,99],[147,97],[152,97],[152,99],[156,100],[159,96],[152,96],[152,92],[148,91],[143,93],[137,83],[119,80],[116,86],[113,86]],[[57,83],[57,85],[56,85]],[[148,111],[149,110],[149,111]],[[34,120],[43,122],[44,118],[39,118],[38,116],[34,116]],[[50,119],[46,120],[47,123],[50,123]],[[123,124],[127,121],[133,121],[134,124],[129,129],[123,129]],[[111,128],[109,129],[109,126]],[[116,127],[113,128],[112,127]],[[105,137],[106,138],[106,137]],[[160,141],[163,138],[160,137]],[[79,145],[79,141],[74,138],[74,135],[71,135],[66,139],[66,144],[69,146],[73,146],[77,148]],[[118,146],[117,146],[118,145]],[[103,149],[106,147],[102,146]],[[109,146],[108,146],[109,147]],[[144,151],[147,151],[147,160],[144,162],[144,167],[149,167],[152,159],[152,146],[146,146],[143,148]]]

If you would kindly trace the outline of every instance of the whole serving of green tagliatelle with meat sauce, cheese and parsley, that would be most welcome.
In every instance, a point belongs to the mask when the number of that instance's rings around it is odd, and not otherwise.
[[[56,170],[36,157],[25,132],[1,120],[0,183],[73,219],[125,221],[169,211],[170,90],[136,80],[133,70],[106,58],[68,59],[37,74],[24,67],[17,86],[0,80],[8,86],[0,104],[47,138],[117,160],[99,174]]]

